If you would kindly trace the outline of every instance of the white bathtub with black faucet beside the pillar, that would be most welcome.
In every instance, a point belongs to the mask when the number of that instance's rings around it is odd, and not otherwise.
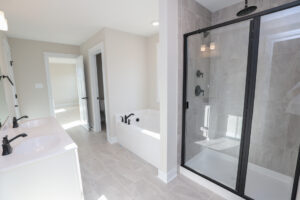
[[[121,116],[134,113],[130,125],[121,121]],[[152,164],[160,164],[160,127],[159,111],[140,110],[116,115],[116,133],[118,143]]]

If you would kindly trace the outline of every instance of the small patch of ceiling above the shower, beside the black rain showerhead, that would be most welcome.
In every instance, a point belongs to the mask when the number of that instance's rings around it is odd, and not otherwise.
[[[211,12],[216,12],[222,8],[226,8],[233,4],[243,2],[244,0],[196,0],[202,6],[210,10]]]

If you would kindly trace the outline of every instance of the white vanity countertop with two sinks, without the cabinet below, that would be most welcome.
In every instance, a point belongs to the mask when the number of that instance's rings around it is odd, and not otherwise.
[[[77,149],[77,145],[53,117],[25,121],[20,123],[19,128],[2,130],[1,145],[4,136],[8,135],[8,139],[11,139],[21,133],[28,136],[11,142],[13,152],[10,155],[2,156],[0,147],[0,173]]]

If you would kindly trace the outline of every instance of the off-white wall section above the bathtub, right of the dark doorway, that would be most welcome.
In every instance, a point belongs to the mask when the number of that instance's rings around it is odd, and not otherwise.
[[[112,134],[116,113],[147,108],[145,38],[107,29],[106,64]]]

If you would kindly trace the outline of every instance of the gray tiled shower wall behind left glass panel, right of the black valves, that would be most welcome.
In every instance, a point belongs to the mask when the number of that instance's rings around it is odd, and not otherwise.
[[[210,56],[208,88],[211,106],[209,137],[214,139],[230,135],[229,116],[237,120],[243,116],[249,22],[222,27],[210,34],[211,41],[216,44]],[[241,130],[238,127],[241,124],[233,123],[230,126],[236,127],[236,139],[240,138]],[[235,156],[238,156],[238,150],[234,148]]]

